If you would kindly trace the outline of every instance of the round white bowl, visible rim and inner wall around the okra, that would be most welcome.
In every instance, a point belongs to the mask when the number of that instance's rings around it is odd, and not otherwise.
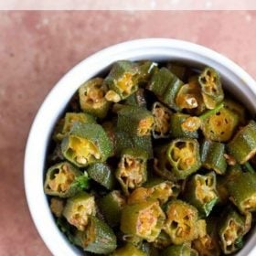
[[[44,165],[50,134],[80,84],[90,80],[102,70],[108,69],[119,59],[156,61],[175,59],[198,67],[211,66],[218,69],[225,89],[244,102],[252,113],[256,112],[256,84],[251,76],[219,53],[196,44],[165,38],[139,39],[105,48],[81,61],[50,91],[37,112],[27,139],[24,163],[27,204],[40,236],[55,256],[82,254],[59,231],[44,194]],[[256,255],[256,248],[253,249],[256,234],[253,233],[255,229],[251,232],[251,237],[244,248],[236,255]]]

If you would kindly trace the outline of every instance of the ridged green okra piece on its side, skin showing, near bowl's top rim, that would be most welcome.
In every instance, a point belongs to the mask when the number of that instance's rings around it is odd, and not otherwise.
[[[183,84],[170,70],[161,68],[152,76],[147,89],[154,92],[159,101],[178,111],[180,108],[176,105],[176,94]]]

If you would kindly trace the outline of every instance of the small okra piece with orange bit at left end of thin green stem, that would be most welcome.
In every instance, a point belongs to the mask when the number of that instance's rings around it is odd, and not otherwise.
[[[189,127],[197,125],[197,119],[195,119],[195,121],[193,121],[191,118],[192,117],[186,113],[182,113],[182,112],[173,113],[171,115],[171,119],[170,119],[171,136],[173,138],[197,139],[198,138],[197,129],[195,130],[195,129],[188,128],[188,125],[189,125]],[[188,119],[190,120],[189,124],[187,123]],[[191,122],[196,122],[196,123],[191,123]],[[184,126],[184,124],[186,124],[186,126]]]

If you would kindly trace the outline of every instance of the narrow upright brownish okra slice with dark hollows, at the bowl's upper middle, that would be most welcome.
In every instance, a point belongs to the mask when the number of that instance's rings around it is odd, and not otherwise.
[[[155,101],[152,107],[154,126],[152,135],[155,139],[168,138],[170,136],[170,119],[172,112],[162,103]]]

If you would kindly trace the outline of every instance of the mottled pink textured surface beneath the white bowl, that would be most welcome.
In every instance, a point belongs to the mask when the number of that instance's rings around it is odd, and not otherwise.
[[[245,11],[0,13],[0,255],[51,255],[28,213],[23,157],[37,109],[65,72],[124,40],[173,37],[213,48],[256,78],[255,27],[256,12]]]

